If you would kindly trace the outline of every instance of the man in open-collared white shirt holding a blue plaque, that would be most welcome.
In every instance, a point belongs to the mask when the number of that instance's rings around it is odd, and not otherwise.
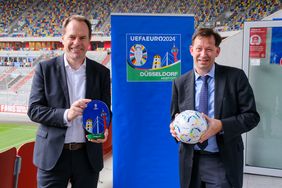
[[[38,187],[97,187],[103,168],[102,143],[89,140],[82,113],[93,99],[109,107],[110,71],[86,58],[91,23],[73,15],[63,23],[64,54],[40,62],[33,78],[28,116],[39,123],[34,148]]]

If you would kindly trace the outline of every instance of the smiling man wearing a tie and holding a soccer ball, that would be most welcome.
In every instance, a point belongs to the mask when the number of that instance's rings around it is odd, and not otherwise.
[[[174,80],[170,132],[175,116],[185,110],[201,109],[204,77],[207,78],[207,111],[203,114],[208,130],[198,144],[180,143],[181,188],[241,188],[243,186],[243,141],[241,134],[257,126],[252,88],[244,72],[218,65],[221,37],[202,28],[192,37],[190,53],[194,69]]]

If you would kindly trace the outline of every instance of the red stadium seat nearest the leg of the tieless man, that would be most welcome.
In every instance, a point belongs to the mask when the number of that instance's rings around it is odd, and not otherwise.
[[[18,188],[36,188],[37,168],[32,163],[34,142],[23,144],[18,149],[18,156],[21,157],[21,170],[18,178]]]

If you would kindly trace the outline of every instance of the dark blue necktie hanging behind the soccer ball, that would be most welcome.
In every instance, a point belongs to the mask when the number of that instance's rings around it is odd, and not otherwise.
[[[208,115],[208,79],[209,75],[201,76],[203,80],[203,85],[200,92],[200,100],[199,100],[199,112],[203,112],[204,114]],[[204,150],[208,145],[208,140],[204,141],[203,143],[197,144],[201,150]]]

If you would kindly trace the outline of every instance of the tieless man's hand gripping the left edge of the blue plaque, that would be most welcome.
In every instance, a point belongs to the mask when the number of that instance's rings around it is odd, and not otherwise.
[[[72,121],[76,117],[81,116],[84,108],[86,108],[87,103],[89,103],[90,101],[91,99],[79,99],[72,103],[67,114],[68,121]]]

